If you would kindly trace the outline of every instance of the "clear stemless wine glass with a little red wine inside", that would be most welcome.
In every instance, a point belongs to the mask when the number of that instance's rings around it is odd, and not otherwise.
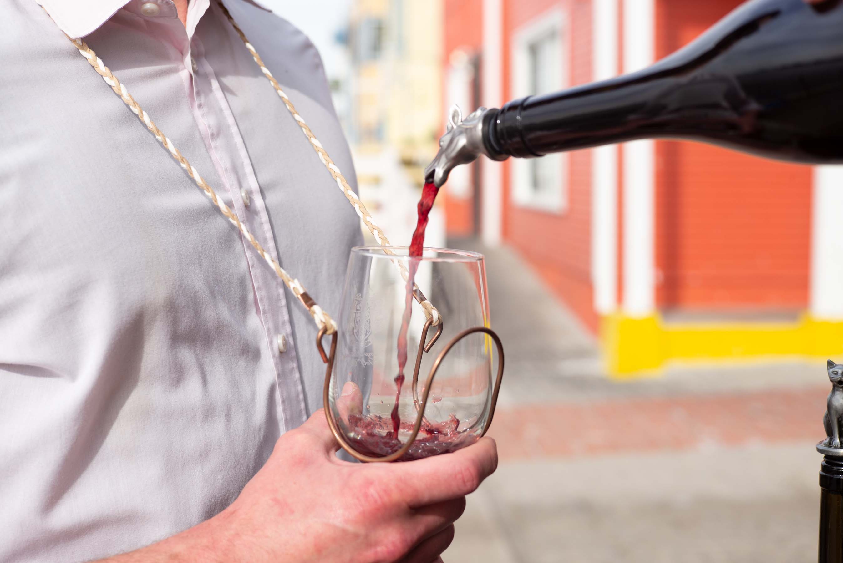
[[[411,299],[399,385],[405,276],[413,265],[416,285],[440,322],[434,324]],[[352,249],[333,338],[330,357],[319,344],[328,362],[325,414],[355,458],[424,458],[464,448],[486,432],[503,374],[503,349],[489,328],[482,255],[426,248],[421,258],[411,258],[406,246]]]

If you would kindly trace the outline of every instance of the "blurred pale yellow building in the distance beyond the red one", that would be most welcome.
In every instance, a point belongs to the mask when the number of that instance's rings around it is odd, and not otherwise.
[[[442,0],[353,0],[341,34],[359,194],[391,244],[410,244],[423,169],[438,149],[442,22]],[[431,213],[426,245],[445,246],[441,208]]]

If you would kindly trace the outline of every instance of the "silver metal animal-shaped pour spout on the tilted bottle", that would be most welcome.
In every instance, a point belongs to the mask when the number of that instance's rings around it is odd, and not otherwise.
[[[463,118],[458,105],[448,110],[448,126],[439,139],[439,152],[431,164],[424,169],[425,181],[432,181],[440,188],[448,180],[448,174],[459,164],[469,164],[481,154],[494,160],[503,160],[507,155],[492,153],[483,140],[486,129],[484,121],[497,115],[497,110],[477,108]]]

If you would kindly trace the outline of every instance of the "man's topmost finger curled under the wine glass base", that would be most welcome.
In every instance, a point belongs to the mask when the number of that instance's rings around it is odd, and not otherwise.
[[[423,507],[466,496],[497,469],[497,445],[490,437],[468,448],[395,467],[410,507]]]

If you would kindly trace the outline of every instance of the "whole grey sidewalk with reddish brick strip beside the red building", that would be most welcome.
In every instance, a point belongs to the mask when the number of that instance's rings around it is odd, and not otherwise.
[[[487,257],[507,371],[490,431],[501,464],[443,560],[816,560],[824,365],[613,382],[597,342],[518,255],[450,246]]]

